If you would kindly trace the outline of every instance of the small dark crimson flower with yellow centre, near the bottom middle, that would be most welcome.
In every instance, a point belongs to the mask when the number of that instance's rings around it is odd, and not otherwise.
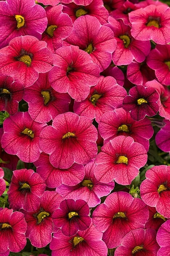
[[[65,236],[74,236],[79,230],[89,228],[91,218],[84,200],[65,199],[53,213],[53,223]]]

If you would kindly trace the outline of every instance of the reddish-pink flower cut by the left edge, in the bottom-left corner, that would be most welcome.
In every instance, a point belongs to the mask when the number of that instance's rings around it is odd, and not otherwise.
[[[23,213],[13,212],[8,208],[0,210],[0,253],[3,256],[7,254],[8,249],[10,252],[20,252],[24,249],[27,243],[26,229],[27,223]]]

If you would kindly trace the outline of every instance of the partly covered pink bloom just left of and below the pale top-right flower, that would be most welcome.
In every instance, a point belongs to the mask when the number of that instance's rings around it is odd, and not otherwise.
[[[128,65],[134,59],[137,62],[144,61],[150,52],[150,42],[134,39],[131,36],[131,27],[125,25],[121,19],[116,20],[109,16],[108,22],[106,26],[112,29],[117,41],[116,50],[112,54],[114,64]]]

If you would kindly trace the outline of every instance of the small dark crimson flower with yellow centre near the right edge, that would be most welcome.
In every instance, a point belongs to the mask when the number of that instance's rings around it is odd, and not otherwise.
[[[129,90],[129,95],[124,98],[123,106],[130,111],[131,117],[142,120],[146,115],[154,116],[159,110],[159,94],[154,88],[136,85]]]

